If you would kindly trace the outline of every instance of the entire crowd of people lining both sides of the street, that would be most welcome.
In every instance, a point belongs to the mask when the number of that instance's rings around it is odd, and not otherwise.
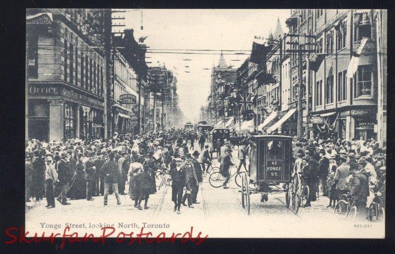
[[[251,134],[233,133],[240,137],[237,170],[246,169]],[[118,205],[119,195],[128,195],[136,209],[147,210],[150,195],[157,192],[156,173],[170,170],[174,212],[180,213],[181,205],[194,208],[199,204],[198,186],[211,166],[212,147],[226,178],[223,187],[228,188],[233,146],[229,140],[210,138],[208,133],[171,128],[142,135],[116,133],[109,140],[29,140],[26,202],[45,196],[50,209],[55,207],[55,198],[61,205],[70,205],[70,200],[92,201],[103,196],[107,205],[108,195],[114,193]],[[316,201],[317,194],[329,197],[328,208],[333,208],[342,194],[349,193],[357,197],[359,211],[375,198],[385,198],[385,144],[380,148],[373,139],[296,137],[292,144],[294,172],[300,173],[310,188],[306,206]]]

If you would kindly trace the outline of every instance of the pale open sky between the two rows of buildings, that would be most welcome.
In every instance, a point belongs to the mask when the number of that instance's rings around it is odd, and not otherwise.
[[[125,24],[125,27],[120,27],[122,30],[132,28],[136,41],[142,36],[148,36],[144,42],[149,47],[148,51],[157,53],[146,54],[151,57],[146,62],[152,62],[147,65],[164,65],[173,71],[178,80],[177,93],[180,108],[186,116],[185,122],[193,123],[199,121],[200,107],[206,104],[210,92],[211,70],[203,68],[218,65],[220,50],[251,50],[253,41],[264,43],[263,40],[254,39],[254,36],[268,38],[271,30],[275,32],[277,17],[285,33],[285,19],[289,15],[289,9],[131,9],[113,14],[125,17],[125,20],[117,20],[117,23]],[[194,49],[215,51],[193,51]],[[249,52],[244,55],[234,54],[235,52],[224,51],[224,57],[228,65],[238,68],[249,56]],[[184,61],[186,58],[191,61]],[[235,59],[240,61],[232,61]]]

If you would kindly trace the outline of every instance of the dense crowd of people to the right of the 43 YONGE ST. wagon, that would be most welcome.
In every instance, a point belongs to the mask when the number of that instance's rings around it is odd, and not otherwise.
[[[349,194],[356,197],[358,214],[363,217],[374,199],[385,200],[385,143],[382,148],[374,139],[294,138],[293,143],[294,172],[306,177],[310,189],[306,206],[316,201],[317,193],[329,197],[328,208],[334,208],[343,194]]]

